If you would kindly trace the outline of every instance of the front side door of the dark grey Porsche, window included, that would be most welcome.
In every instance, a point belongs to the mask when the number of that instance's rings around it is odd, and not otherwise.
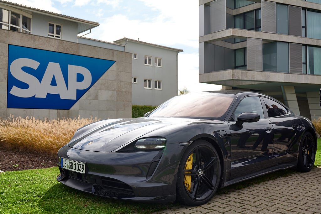
[[[244,112],[260,115],[257,122],[237,125],[237,117]],[[230,118],[231,175],[230,180],[251,176],[272,166],[273,127],[264,116],[259,96],[243,98]]]

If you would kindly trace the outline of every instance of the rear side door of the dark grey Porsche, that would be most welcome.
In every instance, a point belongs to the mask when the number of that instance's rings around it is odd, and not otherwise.
[[[304,125],[282,104],[269,98],[263,98],[263,100],[269,107],[281,109],[280,112],[283,114],[269,116],[274,130],[273,166],[284,163],[296,165],[298,145],[300,136],[304,131]]]

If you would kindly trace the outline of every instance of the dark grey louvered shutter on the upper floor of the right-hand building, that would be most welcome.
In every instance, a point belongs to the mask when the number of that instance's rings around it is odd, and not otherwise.
[[[302,8],[289,5],[289,35],[302,36]]]

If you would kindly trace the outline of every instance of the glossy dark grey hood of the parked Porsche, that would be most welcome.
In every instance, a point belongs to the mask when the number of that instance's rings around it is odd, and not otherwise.
[[[81,150],[112,152],[156,129],[190,120],[145,117],[103,120],[78,129],[68,146]]]

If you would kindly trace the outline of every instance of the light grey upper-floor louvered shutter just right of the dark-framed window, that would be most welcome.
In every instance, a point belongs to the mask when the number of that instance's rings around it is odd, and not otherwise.
[[[276,4],[261,1],[261,26],[263,32],[276,33]]]

